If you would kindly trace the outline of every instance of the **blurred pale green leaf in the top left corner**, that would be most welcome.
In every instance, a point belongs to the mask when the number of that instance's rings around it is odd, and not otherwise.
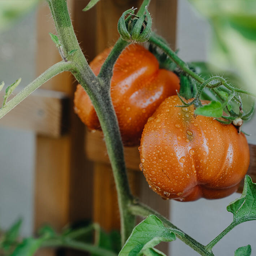
[[[0,32],[7,30],[38,3],[38,0],[1,0],[0,1]]]

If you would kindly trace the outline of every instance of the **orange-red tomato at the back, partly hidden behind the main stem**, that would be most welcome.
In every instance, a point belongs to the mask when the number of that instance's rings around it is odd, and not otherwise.
[[[95,75],[107,58],[110,48],[90,64]],[[110,93],[116,111],[123,143],[138,145],[143,127],[156,108],[179,90],[179,78],[173,72],[159,69],[156,57],[142,45],[126,47],[113,68]],[[94,107],[81,85],[74,98],[75,112],[89,129],[100,129]]]

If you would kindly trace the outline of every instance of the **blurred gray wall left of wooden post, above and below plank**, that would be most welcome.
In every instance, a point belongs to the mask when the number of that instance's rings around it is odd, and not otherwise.
[[[9,85],[21,77],[17,91],[35,78],[35,18],[34,11],[0,34],[0,81]],[[23,235],[33,225],[34,138],[32,132],[0,128],[0,228],[22,217]]]

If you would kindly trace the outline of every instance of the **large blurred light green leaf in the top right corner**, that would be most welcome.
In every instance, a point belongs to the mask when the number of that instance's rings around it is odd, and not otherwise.
[[[213,28],[210,60],[256,92],[256,1],[190,0]],[[239,86],[239,85],[238,85]]]

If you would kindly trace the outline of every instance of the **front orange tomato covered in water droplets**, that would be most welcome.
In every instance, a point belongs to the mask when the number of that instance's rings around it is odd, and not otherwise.
[[[140,168],[162,198],[217,199],[235,192],[247,172],[249,147],[234,125],[212,117],[194,117],[170,96],[146,123],[140,144]]]

